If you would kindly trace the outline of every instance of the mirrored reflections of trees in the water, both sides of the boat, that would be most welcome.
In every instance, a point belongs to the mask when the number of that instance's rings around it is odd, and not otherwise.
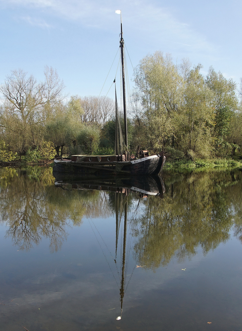
[[[61,248],[68,226],[83,217],[115,215],[116,192],[55,187],[52,168],[2,168],[1,222],[6,237],[22,250],[49,238],[52,252]],[[133,254],[144,268],[156,270],[171,259],[204,254],[228,240],[230,230],[242,238],[241,171],[165,173],[163,198],[131,192],[127,222],[135,238]],[[64,187],[62,187],[64,188]],[[123,194],[123,193],[119,193]]]

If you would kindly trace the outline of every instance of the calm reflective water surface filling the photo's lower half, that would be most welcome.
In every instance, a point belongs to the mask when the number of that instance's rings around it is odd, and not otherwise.
[[[242,329],[241,171],[0,172],[0,330]]]

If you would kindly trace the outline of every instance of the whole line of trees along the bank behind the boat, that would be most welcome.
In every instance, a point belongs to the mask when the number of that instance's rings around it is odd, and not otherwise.
[[[233,79],[188,59],[145,56],[134,70],[128,118],[129,149],[164,150],[171,158],[235,155],[242,146],[240,97]],[[242,81],[241,81],[242,83]],[[0,160],[66,154],[112,154],[115,103],[107,97],[64,95],[64,83],[45,67],[38,82],[14,70],[0,86]],[[122,117],[122,116],[121,116]]]

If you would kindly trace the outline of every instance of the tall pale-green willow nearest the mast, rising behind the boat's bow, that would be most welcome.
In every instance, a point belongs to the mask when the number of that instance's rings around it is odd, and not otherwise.
[[[170,55],[161,52],[145,56],[134,78],[142,105],[146,144],[153,150],[164,147],[174,134],[174,114],[180,108],[183,81]]]

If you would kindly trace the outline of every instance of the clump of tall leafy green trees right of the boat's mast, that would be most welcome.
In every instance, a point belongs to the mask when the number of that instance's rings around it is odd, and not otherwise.
[[[160,52],[140,61],[134,79],[135,144],[141,140],[156,151],[172,141],[186,154],[193,151],[192,159],[234,153],[227,138],[238,105],[235,82],[213,68],[205,79],[201,65],[190,67],[188,60],[178,66]]]

